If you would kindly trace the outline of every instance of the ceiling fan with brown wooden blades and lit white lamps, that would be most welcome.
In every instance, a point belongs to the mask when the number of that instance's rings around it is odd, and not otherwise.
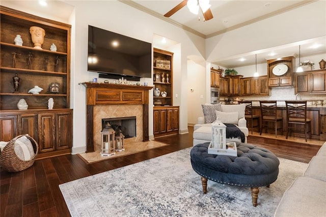
[[[204,16],[204,21],[207,21],[207,20],[210,20],[213,18],[213,14],[210,10],[209,0],[183,0],[181,3],[179,3],[176,7],[172,8],[164,16],[170,17],[186,5],[187,5],[189,11],[194,14],[198,14],[199,11],[201,11]]]

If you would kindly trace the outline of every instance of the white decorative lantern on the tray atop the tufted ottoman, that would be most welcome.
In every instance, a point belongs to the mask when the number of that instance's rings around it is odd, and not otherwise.
[[[222,122],[212,123],[212,148],[226,149],[226,126]]]

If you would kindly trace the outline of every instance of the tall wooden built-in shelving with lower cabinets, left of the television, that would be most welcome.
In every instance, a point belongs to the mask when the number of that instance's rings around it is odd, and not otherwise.
[[[29,133],[40,146],[38,157],[70,153],[71,25],[3,6],[0,9],[0,119],[4,127],[1,139],[8,141],[16,135]],[[34,48],[31,26],[45,30],[42,49]],[[18,34],[23,40],[22,46],[14,44]],[[50,50],[52,43],[57,51]],[[16,86],[14,77],[18,79]],[[35,86],[43,90],[39,94],[28,93]],[[17,109],[22,98],[28,104],[27,110]],[[50,98],[54,101],[52,110],[48,110]]]

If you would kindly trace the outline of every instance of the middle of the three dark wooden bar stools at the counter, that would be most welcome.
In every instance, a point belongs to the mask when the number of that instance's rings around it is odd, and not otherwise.
[[[277,130],[281,130],[283,135],[283,118],[277,116],[277,101],[276,100],[261,100],[260,103],[260,113],[261,113],[261,128],[260,135],[265,127],[265,133],[267,133],[267,128],[269,123],[275,124],[275,137],[277,137]],[[281,122],[281,126],[278,127],[277,123]]]

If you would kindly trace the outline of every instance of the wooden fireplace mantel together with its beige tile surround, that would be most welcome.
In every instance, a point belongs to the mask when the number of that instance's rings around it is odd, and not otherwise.
[[[85,82],[86,152],[98,150],[101,144],[102,118],[136,116],[134,138],[126,143],[148,141],[148,103],[150,86],[114,85]]]

